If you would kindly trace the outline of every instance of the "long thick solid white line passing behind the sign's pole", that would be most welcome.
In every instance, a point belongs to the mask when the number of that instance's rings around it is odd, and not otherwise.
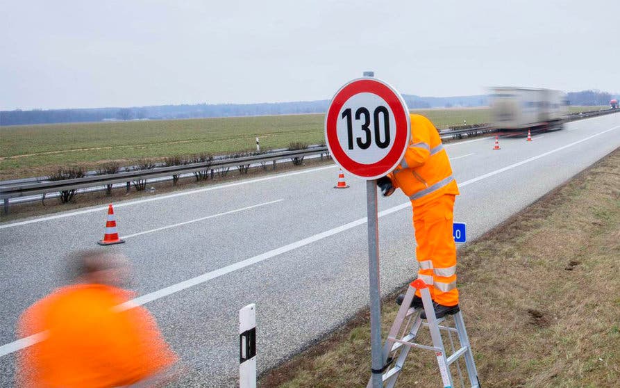
[[[617,127],[613,127],[610,129],[607,129],[605,131],[599,132],[598,134],[594,134],[592,136],[588,136],[587,138],[583,138],[581,140],[578,140],[576,142],[564,145],[560,148],[556,148],[556,149],[552,149],[551,151],[545,152],[544,154],[540,154],[538,156],[533,156],[529,159],[526,159],[524,161],[520,161],[518,163],[512,163],[511,165],[507,165],[504,168],[500,168],[498,170],[494,170],[492,172],[488,172],[485,175],[480,175],[479,177],[475,177],[472,179],[468,179],[467,181],[464,181],[462,183],[459,184],[459,187],[464,187],[464,186],[468,186],[470,184],[473,184],[477,181],[481,181],[483,179],[487,179],[489,177],[492,177],[494,175],[497,174],[501,174],[501,172],[505,172],[508,170],[512,170],[513,168],[517,168],[519,167],[519,165],[523,165],[526,163],[530,163],[531,161],[535,161],[537,159],[540,159],[544,156],[553,154],[555,152],[559,152],[562,149],[566,149],[568,147],[572,147],[573,145],[577,145],[579,143],[583,143],[586,140],[589,140],[591,138],[596,138],[596,136],[600,136],[602,134],[606,134],[609,131],[613,131],[614,129],[618,129],[620,128],[620,125],[618,125]],[[378,213],[378,217],[383,217],[383,216],[387,216],[388,214],[394,213],[396,211],[402,210],[402,209],[406,209],[408,207],[411,206],[410,202],[405,202],[404,204],[399,204],[398,206],[395,207],[391,207],[389,209],[380,211]],[[251,266],[252,264],[256,264],[260,261],[265,261],[267,259],[270,259],[271,257],[274,256],[278,256],[279,254],[283,254],[285,252],[289,252],[290,250],[294,250],[296,248],[301,248],[304,245],[308,245],[310,243],[314,243],[315,241],[319,241],[322,239],[326,239],[329,236],[333,236],[334,234],[338,234],[340,232],[344,232],[346,230],[349,230],[353,227],[357,227],[359,225],[364,225],[366,223],[366,217],[365,218],[360,218],[359,220],[355,220],[351,223],[345,224],[345,225],[341,225],[340,227],[335,227],[333,229],[329,229],[326,232],[321,232],[319,234],[315,234],[314,236],[310,236],[307,237],[303,240],[299,240],[296,241],[294,243],[290,243],[288,245],[284,245],[283,247],[280,248],[276,248],[274,250],[270,250],[269,252],[265,252],[263,254],[259,254],[258,256],[255,257],[251,257],[249,259],[245,259],[243,261],[239,261],[235,264],[231,264],[230,266],[226,266],[223,268],[219,268],[217,270],[213,270],[211,272],[208,273],[203,273],[202,275],[196,276],[196,277],[192,277],[192,279],[189,280],[185,280],[183,282],[179,282],[176,284],[172,284],[171,286],[167,286],[165,289],[160,289],[158,291],[153,291],[151,293],[146,293],[143,296],[139,296],[135,299],[129,300],[127,302],[124,302],[122,305],[118,305],[117,309],[119,311],[124,311],[126,309],[131,309],[132,307],[135,306],[140,306],[140,305],[144,305],[145,303],[148,302],[152,302],[153,300],[157,300],[160,298],[163,298],[165,296],[169,296],[173,293],[176,293],[178,291],[183,291],[184,289],[190,288],[192,286],[196,286],[198,284],[207,282],[208,280],[212,280],[215,279],[216,277],[220,277],[223,275],[226,275],[228,273],[231,273],[235,270],[240,270],[242,268],[245,268],[247,266]],[[16,352],[17,350],[23,349],[23,348],[27,348],[28,346],[33,345],[34,343],[37,343],[38,341],[40,341],[40,339],[37,339],[38,337],[36,337],[37,335],[41,335],[42,333],[37,333],[37,334],[33,334],[30,337],[26,337],[26,338],[22,338],[22,339],[18,339],[17,341],[13,341],[11,343],[7,343],[6,345],[0,346],[0,357],[2,357],[3,355],[8,355],[9,353],[13,353]],[[27,341],[26,341],[27,340]]]

